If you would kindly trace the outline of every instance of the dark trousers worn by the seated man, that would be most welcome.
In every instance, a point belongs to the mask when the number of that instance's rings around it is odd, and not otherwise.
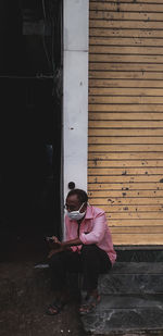
[[[98,287],[99,274],[108,273],[112,267],[106,252],[97,245],[84,245],[80,253],[66,250],[53,254],[49,264],[54,290],[66,288],[67,272],[83,273],[84,289],[93,290]]]

